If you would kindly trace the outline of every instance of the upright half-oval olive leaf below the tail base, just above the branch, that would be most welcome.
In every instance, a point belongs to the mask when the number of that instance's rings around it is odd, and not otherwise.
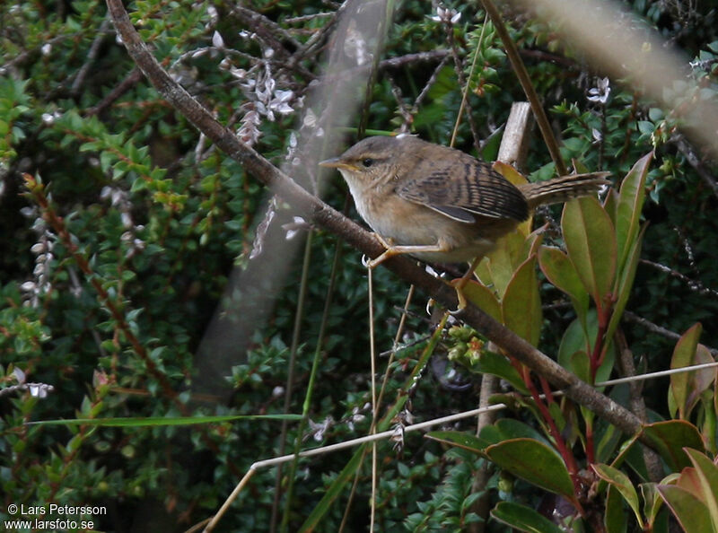
[[[531,256],[513,273],[501,301],[503,323],[534,346],[538,345],[543,321],[535,269],[536,256]]]

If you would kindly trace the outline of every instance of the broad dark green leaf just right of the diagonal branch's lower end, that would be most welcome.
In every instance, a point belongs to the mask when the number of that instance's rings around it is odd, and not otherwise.
[[[684,447],[705,452],[701,434],[698,433],[695,425],[685,420],[646,424],[642,433],[644,437],[653,442],[653,450],[661,455],[673,472],[679,472],[683,468],[691,466],[691,462],[683,450]]]

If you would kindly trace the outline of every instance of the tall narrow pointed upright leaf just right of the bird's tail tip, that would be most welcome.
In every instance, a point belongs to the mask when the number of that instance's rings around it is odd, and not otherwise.
[[[638,234],[641,209],[645,198],[645,177],[651,164],[652,152],[635,162],[621,183],[616,210],[616,241],[618,251],[618,270],[623,270],[633,249],[633,241]]]

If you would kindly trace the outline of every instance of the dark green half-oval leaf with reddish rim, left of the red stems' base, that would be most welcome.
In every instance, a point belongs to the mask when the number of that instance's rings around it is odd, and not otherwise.
[[[534,439],[512,439],[486,448],[497,466],[533,485],[575,502],[574,484],[555,450]]]

